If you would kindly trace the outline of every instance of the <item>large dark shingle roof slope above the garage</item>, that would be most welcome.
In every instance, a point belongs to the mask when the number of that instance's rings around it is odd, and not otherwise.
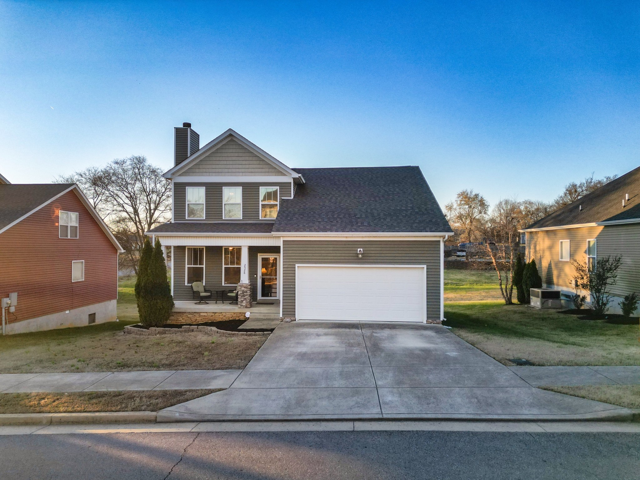
[[[452,232],[417,166],[295,168],[273,232]]]

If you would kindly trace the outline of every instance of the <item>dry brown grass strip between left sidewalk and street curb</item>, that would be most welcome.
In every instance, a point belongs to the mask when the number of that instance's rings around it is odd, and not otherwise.
[[[220,390],[0,394],[0,413],[157,412]]]

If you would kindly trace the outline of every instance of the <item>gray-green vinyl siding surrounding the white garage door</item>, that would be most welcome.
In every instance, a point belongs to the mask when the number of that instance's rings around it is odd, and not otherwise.
[[[356,251],[364,248],[362,259]],[[427,318],[440,320],[440,241],[284,240],[282,315],[296,316],[296,264],[426,265]],[[380,301],[401,301],[397,292],[380,292]]]

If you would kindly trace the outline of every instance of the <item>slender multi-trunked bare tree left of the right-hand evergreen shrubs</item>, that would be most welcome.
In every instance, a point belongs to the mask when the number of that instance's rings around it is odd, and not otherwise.
[[[483,223],[484,253],[498,275],[498,284],[504,303],[513,303],[513,269],[519,252],[518,223],[522,218],[520,204],[511,198],[500,200],[491,216]]]

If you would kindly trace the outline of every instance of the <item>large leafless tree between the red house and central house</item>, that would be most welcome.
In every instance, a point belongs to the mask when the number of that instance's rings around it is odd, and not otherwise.
[[[80,186],[125,250],[122,264],[137,273],[145,232],[170,218],[171,184],[162,170],[136,155],[56,181]]]

